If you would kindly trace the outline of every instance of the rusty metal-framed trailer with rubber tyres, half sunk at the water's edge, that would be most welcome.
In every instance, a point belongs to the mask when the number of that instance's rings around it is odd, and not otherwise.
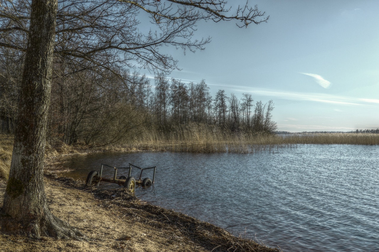
[[[103,178],[102,177],[103,167],[111,167],[114,169],[113,178]],[[136,180],[134,177],[131,176],[132,167],[135,167],[135,168],[141,170],[141,173],[139,174],[138,180]],[[136,185],[149,186],[149,185],[152,185],[154,183],[156,168],[157,168],[157,166],[141,168],[141,167],[135,166],[134,164],[131,164],[131,163],[129,163],[129,167],[114,167],[114,166],[110,166],[108,164],[101,164],[100,174],[97,171],[89,172],[87,179],[86,179],[86,185],[87,186],[98,186],[100,184],[100,181],[104,181],[104,182],[109,182],[109,183],[116,183],[120,186],[124,186],[124,188],[127,188],[130,192],[134,192]],[[119,178],[116,178],[117,177],[117,170],[119,170],[119,169],[128,169],[129,170],[128,171],[128,177],[121,175]],[[147,177],[142,180],[142,172],[144,170],[149,170],[149,169],[154,169],[153,170],[153,180],[151,180],[150,178],[147,178]]]

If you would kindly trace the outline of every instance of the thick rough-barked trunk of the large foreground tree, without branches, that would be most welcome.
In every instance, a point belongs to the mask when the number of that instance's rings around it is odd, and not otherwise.
[[[34,238],[80,235],[53,216],[44,191],[43,160],[57,6],[57,0],[33,0],[31,5],[19,116],[0,222],[3,233],[26,233]]]

